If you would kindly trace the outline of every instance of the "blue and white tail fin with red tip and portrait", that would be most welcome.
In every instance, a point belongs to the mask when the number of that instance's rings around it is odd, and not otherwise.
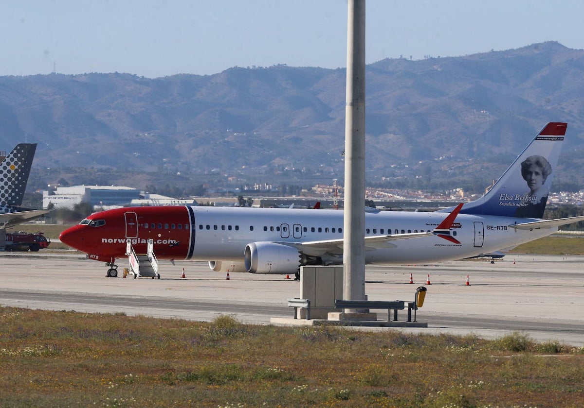
[[[481,198],[461,213],[541,218],[568,124],[550,122]]]

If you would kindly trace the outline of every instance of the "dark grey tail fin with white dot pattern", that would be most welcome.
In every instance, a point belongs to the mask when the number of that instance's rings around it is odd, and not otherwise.
[[[20,206],[29,181],[36,143],[20,143],[0,163],[0,205]]]

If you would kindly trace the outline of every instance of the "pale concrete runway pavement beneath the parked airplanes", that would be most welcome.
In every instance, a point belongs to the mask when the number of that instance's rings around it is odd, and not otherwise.
[[[32,309],[123,312],[211,321],[231,315],[246,323],[291,318],[287,299],[299,284],[280,275],[223,273],[206,262],[161,262],[161,279],[106,278],[103,263],[74,251],[0,252],[0,304]],[[182,269],[186,277],[183,279]],[[409,284],[412,274],[414,284]],[[430,284],[426,280],[430,275]],[[466,285],[467,275],[470,285]],[[419,333],[500,337],[515,331],[534,340],[584,346],[584,256],[507,255],[501,261],[368,266],[369,300],[412,300],[427,288]],[[402,314],[400,319],[404,319]],[[380,314],[378,319],[384,319]]]

